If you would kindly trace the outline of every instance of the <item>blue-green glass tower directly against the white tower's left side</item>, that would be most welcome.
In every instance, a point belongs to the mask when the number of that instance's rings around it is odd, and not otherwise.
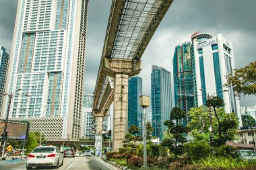
[[[172,59],[175,106],[186,114],[194,107],[190,46],[190,42],[176,46]],[[183,124],[186,122],[187,119],[184,119]]]

